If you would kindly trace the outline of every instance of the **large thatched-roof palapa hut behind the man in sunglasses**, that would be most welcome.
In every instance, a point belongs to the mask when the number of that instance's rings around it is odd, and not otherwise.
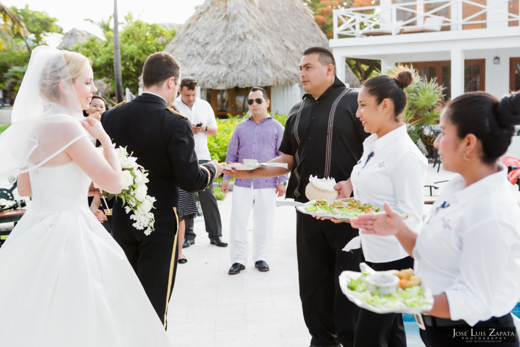
[[[264,86],[271,111],[287,113],[301,100],[298,65],[327,37],[302,0],[206,0],[164,51],[194,76],[217,117],[248,111],[252,86]],[[340,63],[344,66],[344,63]],[[358,83],[350,71],[347,76]]]

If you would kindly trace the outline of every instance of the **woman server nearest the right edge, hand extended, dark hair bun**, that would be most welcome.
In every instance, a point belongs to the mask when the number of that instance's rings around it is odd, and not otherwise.
[[[421,233],[388,204],[386,214],[352,222],[361,233],[395,235],[413,254],[415,273],[434,294],[433,309],[417,317],[428,347],[518,346],[509,313],[520,298],[520,208],[498,159],[519,123],[520,93],[500,101],[483,92],[453,99],[435,147],[443,168],[459,175],[439,195]]]

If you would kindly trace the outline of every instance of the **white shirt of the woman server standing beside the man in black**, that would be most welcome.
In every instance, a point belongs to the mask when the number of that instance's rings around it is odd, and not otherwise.
[[[406,223],[417,230],[422,225],[427,166],[405,124],[381,138],[372,134],[363,142],[363,155],[350,175],[354,198],[381,207],[388,202],[393,210],[408,214]],[[360,235],[363,255],[369,262],[386,263],[408,256],[393,235]]]

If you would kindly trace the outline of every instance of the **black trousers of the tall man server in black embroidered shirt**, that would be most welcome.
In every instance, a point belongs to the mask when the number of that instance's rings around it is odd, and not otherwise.
[[[357,235],[350,224],[318,221],[296,212],[300,299],[311,344],[354,343],[359,309],[342,293],[339,276],[345,270],[359,271],[360,251],[342,250]]]

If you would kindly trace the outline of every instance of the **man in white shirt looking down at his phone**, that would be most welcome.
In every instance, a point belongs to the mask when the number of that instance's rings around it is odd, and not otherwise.
[[[173,105],[190,120],[199,164],[209,162],[211,155],[207,148],[207,137],[216,136],[218,128],[215,113],[209,102],[197,97],[196,79],[188,76],[180,82],[180,96],[177,97]],[[226,247],[227,243],[222,240],[222,222],[220,221],[217,198],[213,191],[213,181],[207,189],[199,191],[198,194],[210,243],[218,247]],[[185,223],[186,234],[183,248],[193,245],[197,236],[193,232],[193,217],[186,218]]]

